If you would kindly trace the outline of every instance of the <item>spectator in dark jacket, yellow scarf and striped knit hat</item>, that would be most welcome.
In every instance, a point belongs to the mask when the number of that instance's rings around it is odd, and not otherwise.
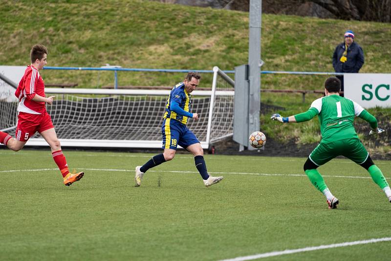
[[[333,67],[335,72],[357,73],[364,64],[364,52],[358,43],[354,42],[354,33],[345,32],[345,41],[335,48],[333,54]],[[341,80],[341,96],[344,96],[344,76],[338,75]]]

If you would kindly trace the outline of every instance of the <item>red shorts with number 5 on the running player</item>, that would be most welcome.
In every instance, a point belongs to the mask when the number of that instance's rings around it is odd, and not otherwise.
[[[15,136],[19,141],[27,141],[35,132],[41,133],[52,128],[52,118],[46,111],[42,114],[19,112]]]

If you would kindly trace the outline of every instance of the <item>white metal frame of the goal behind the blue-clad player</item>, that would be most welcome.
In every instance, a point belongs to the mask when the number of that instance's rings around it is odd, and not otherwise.
[[[227,112],[229,115],[226,115],[227,118],[233,118],[233,98],[235,96],[234,81],[229,78],[223,71],[221,71],[217,66],[213,68],[214,76],[211,90],[195,90],[192,92],[193,99],[197,96],[210,97],[209,105],[209,115],[208,115],[208,124],[207,124],[207,133],[206,140],[201,141],[201,147],[203,149],[209,149],[210,144],[216,142],[219,139],[223,139],[233,135],[233,121],[231,123],[225,122],[221,124],[219,122],[213,123],[214,115],[214,105],[218,97],[228,97],[230,100],[222,101],[222,103],[227,106]],[[229,86],[231,89],[218,87],[218,81],[223,81],[226,86]],[[87,89],[87,88],[45,88],[46,95],[56,94],[72,94],[72,95],[144,95],[144,96],[169,96],[171,90],[151,90],[151,89]],[[229,104],[232,103],[232,104]],[[211,106],[212,105],[212,106]],[[221,107],[221,105],[219,106]],[[221,110],[221,108],[220,108]],[[195,111],[196,112],[196,111]],[[163,114],[163,108],[161,113]],[[224,114],[224,113],[221,113]],[[160,123],[161,124],[161,123]],[[226,130],[218,135],[212,135],[214,131],[214,126],[227,125]],[[230,128],[231,127],[231,128]],[[16,128],[16,126],[15,126]],[[7,128],[12,129],[12,128]],[[216,133],[216,131],[215,131]],[[161,140],[118,140],[118,139],[66,139],[61,138],[59,135],[59,140],[62,147],[99,147],[99,148],[153,148],[160,149],[162,146]],[[46,141],[43,138],[30,138],[26,146],[47,146]],[[180,146],[178,146],[180,148]]]

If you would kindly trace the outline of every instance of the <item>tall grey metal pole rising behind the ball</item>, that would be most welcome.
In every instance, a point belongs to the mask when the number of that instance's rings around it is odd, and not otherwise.
[[[248,48],[248,81],[249,118],[248,133],[260,130],[261,109],[261,0],[250,0],[249,48]],[[253,149],[248,145],[249,149]]]

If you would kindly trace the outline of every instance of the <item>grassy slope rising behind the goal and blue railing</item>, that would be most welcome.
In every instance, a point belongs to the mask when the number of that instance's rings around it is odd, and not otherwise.
[[[44,6],[44,9],[42,9]],[[248,13],[158,2],[4,1],[0,4],[0,64],[27,65],[34,43],[49,47],[52,66],[121,65],[123,67],[232,70],[247,62]],[[34,14],[34,15],[33,15]],[[391,24],[262,15],[262,70],[332,71],[331,56],[347,29],[364,48],[361,72],[390,72]],[[112,85],[112,72],[43,71],[46,83],[76,82],[79,87]],[[183,77],[173,73],[120,72],[120,85],[168,85]],[[263,75],[262,88],[321,89],[325,76]],[[211,85],[204,74],[202,87]],[[293,98],[292,98],[293,97]],[[262,94],[262,101],[286,108],[284,115],[305,110],[319,96]],[[372,111],[372,110],[371,110]],[[390,113],[385,121],[390,121]],[[378,116],[378,115],[376,115]],[[273,138],[275,124],[261,117]],[[278,127],[298,143],[319,140],[316,121]],[[286,131],[285,131],[286,130]],[[307,131],[311,132],[308,134]]]

